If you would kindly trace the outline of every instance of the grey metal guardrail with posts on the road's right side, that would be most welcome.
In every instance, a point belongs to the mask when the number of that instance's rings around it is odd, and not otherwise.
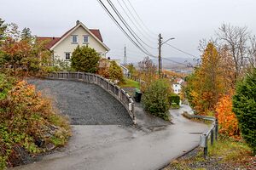
[[[184,111],[183,116],[188,118],[196,118],[196,119],[203,119],[206,121],[212,121],[211,128],[208,129],[206,132],[202,133],[200,136],[200,146],[204,148],[204,158],[207,158],[208,154],[208,139],[210,136],[211,145],[214,143],[214,136],[215,140],[218,140],[218,119],[213,116],[201,116],[201,115],[190,115]]]

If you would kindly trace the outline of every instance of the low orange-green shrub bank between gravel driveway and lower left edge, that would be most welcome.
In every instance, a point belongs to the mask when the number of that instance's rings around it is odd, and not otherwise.
[[[22,163],[22,154],[32,157],[50,144],[55,148],[67,143],[67,117],[59,115],[34,86],[1,74],[0,89],[0,169]]]

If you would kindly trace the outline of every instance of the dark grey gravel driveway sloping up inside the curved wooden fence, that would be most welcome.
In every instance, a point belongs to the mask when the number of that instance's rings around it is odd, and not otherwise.
[[[70,117],[73,125],[131,125],[132,121],[112,95],[85,82],[30,79],[42,94],[53,99],[61,114]]]

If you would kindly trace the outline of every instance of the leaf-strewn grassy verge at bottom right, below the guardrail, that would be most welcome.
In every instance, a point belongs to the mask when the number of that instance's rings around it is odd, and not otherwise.
[[[203,149],[197,148],[186,156],[178,158],[165,167],[173,169],[253,169],[255,156],[242,140],[221,137],[215,144],[208,144],[207,159],[203,158]]]

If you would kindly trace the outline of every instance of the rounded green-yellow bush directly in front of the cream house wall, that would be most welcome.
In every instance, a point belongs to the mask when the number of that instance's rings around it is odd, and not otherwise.
[[[95,73],[99,65],[100,56],[94,48],[87,46],[74,49],[71,58],[71,67],[75,71]]]

